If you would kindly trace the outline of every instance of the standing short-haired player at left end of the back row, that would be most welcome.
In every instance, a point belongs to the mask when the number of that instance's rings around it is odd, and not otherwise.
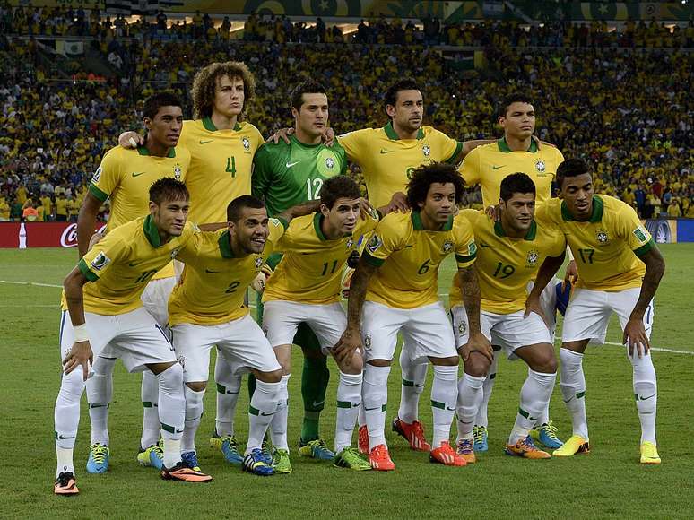
[[[87,253],[94,233],[96,216],[101,205],[110,199],[111,213],[106,230],[110,232],[149,212],[148,188],[159,178],[184,180],[190,166],[190,152],[178,146],[183,125],[183,112],[178,96],[160,92],[144,100],[143,123],[147,130],[142,146],[136,150],[116,146],[104,155],[99,169],[91,178],[77,220],[77,247],[80,257]],[[163,330],[168,322],[169,294],[176,284],[173,261],[152,276],[143,292],[144,308]],[[116,360],[107,357],[100,361],[102,371],[94,377],[110,381]],[[110,384],[110,383],[108,383]],[[143,371],[142,396],[144,405],[143,437],[137,460],[140,464],[161,469],[162,451],[157,412],[157,379],[151,371]],[[153,390],[152,390],[153,388]],[[88,472],[108,470],[108,408],[90,406],[91,448]],[[153,426],[152,426],[153,423]]]

